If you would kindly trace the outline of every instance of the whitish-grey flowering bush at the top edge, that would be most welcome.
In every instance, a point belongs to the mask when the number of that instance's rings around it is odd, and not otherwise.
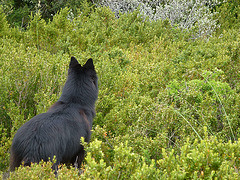
[[[197,27],[196,36],[211,35],[217,28],[214,13],[209,7],[219,4],[217,0],[95,0],[97,6],[108,6],[116,17],[119,13],[133,12],[137,8],[150,20],[168,19],[181,29]]]

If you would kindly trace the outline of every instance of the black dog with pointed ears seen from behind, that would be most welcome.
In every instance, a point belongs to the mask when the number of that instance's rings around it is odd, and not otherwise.
[[[81,137],[90,141],[95,102],[98,97],[97,74],[92,59],[81,66],[72,57],[68,79],[59,100],[46,112],[26,122],[13,138],[10,170],[22,163],[30,166],[56,157],[60,163],[80,167],[84,159]]]

